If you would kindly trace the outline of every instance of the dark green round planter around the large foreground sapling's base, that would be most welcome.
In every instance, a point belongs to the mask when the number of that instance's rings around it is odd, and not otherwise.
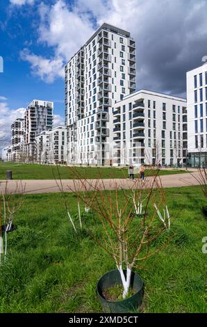
[[[126,274],[126,271],[124,271]],[[138,273],[131,273],[131,287],[135,289],[135,294],[121,301],[108,301],[104,298],[103,292],[110,287],[122,285],[122,279],[118,270],[112,270],[101,277],[97,282],[97,294],[105,312],[124,313],[134,312],[141,304],[144,294],[142,278]]]

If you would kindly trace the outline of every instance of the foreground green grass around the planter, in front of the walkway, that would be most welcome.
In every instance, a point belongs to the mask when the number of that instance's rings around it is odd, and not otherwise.
[[[197,186],[166,192],[176,237],[146,270],[136,269],[145,285],[142,311],[207,312],[204,198]],[[67,198],[75,214],[76,197]],[[0,267],[0,312],[101,312],[96,283],[115,264],[85,229],[74,234],[61,195],[25,196],[15,225]]]

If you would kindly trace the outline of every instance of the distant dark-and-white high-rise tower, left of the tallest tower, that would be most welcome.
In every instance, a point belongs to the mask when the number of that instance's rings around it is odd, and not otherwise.
[[[24,113],[24,152],[27,161],[36,160],[35,137],[53,127],[53,102],[33,100]]]

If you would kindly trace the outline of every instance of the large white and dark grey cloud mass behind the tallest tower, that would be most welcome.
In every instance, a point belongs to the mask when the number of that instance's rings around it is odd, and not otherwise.
[[[171,90],[179,95],[185,89],[186,70],[198,66],[206,55],[205,0],[188,0],[188,6],[186,0],[45,3],[38,5],[38,42],[53,49],[53,56],[42,58],[28,52],[24,59],[31,63],[33,73],[47,82],[63,76],[64,63],[104,22],[130,31],[137,41],[139,88]]]

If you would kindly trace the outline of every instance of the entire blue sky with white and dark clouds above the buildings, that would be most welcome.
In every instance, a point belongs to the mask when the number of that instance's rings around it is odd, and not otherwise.
[[[103,23],[137,42],[137,85],[185,96],[207,55],[207,0],[0,0],[0,138],[33,99],[64,115],[64,64]]]

